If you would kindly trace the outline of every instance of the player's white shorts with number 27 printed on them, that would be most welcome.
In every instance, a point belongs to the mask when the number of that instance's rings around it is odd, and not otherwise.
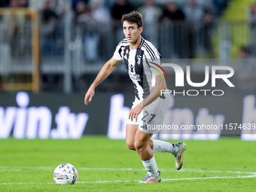
[[[158,125],[162,125],[171,100],[169,94],[164,94],[163,96],[163,98],[158,97],[154,102],[145,106],[139,114],[137,121],[133,118],[133,120],[128,119],[126,123],[139,125],[139,130],[144,133],[157,133],[159,131],[157,129]],[[135,99],[132,108],[136,107],[139,102],[138,99]]]

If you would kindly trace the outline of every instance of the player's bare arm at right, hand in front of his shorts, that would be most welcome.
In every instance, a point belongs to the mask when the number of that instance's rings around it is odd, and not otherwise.
[[[151,104],[151,102],[154,102],[154,100],[160,96],[161,90],[166,90],[166,81],[160,75],[157,75],[156,86],[151,91],[151,93],[142,102],[139,103],[139,105],[136,105],[135,108],[131,109],[131,111],[129,113],[129,118],[131,118],[131,120],[133,120],[133,118],[135,118],[137,121],[137,118],[138,118],[139,114],[142,112],[142,109],[145,106]]]

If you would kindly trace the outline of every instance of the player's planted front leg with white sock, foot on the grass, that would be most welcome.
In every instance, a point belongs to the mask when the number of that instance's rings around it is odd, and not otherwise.
[[[154,153],[148,145],[152,135],[152,133],[144,133],[138,129],[134,138],[134,147],[142,160],[143,166],[148,170],[147,176],[140,181],[141,183],[154,183],[161,181],[161,175],[157,168],[156,160],[154,159]]]

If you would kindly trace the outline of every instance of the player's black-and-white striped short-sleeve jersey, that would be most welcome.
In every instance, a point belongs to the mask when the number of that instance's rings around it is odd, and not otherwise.
[[[133,81],[136,98],[145,99],[152,86],[151,62],[160,63],[160,53],[151,42],[142,38],[136,50],[131,50],[128,41],[124,38],[114,51],[114,59],[123,61],[124,66]]]

